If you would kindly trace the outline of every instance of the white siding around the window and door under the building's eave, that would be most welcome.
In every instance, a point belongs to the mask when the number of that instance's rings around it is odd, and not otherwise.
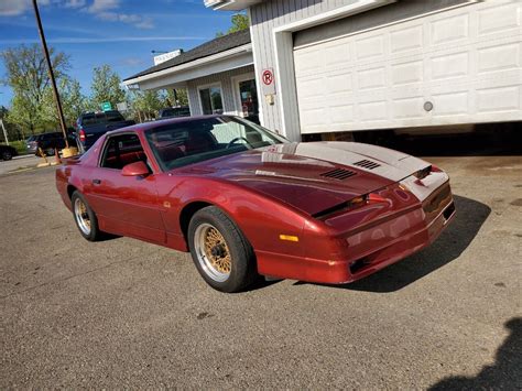
[[[200,116],[203,113],[197,87],[211,85],[211,84],[221,85],[221,98],[222,98],[224,111],[227,113],[236,112],[238,108],[235,100],[236,91],[233,90],[235,87],[232,86],[231,78],[235,76],[239,76],[239,75],[243,75],[243,74],[248,74],[252,72],[253,72],[253,65],[249,65],[241,68],[227,70],[219,74],[214,74],[210,76],[205,76],[205,77],[188,80],[187,90],[188,90],[188,100],[191,105],[191,113],[193,116]]]

